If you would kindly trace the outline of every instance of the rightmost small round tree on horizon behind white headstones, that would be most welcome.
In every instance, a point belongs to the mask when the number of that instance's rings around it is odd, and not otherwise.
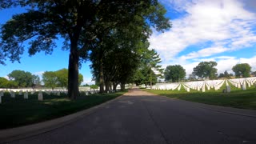
[[[240,63],[236,64],[232,67],[232,70],[234,71],[234,75],[236,78],[248,78],[250,77],[250,70],[251,67],[248,63]]]

